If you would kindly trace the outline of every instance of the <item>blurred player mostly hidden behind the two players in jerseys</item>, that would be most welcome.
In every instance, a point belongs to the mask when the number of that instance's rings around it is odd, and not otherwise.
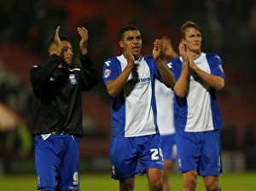
[[[163,53],[162,60],[167,63],[170,59],[176,58],[177,52],[172,48],[169,38],[163,37]],[[171,190],[169,175],[172,166],[177,160],[177,147],[175,141],[175,125],[174,125],[174,92],[162,84],[160,80],[155,79],[155,100],[157,108],[157,124],[162,139],[162,151],[165,159],[164,186],[163,191]]]

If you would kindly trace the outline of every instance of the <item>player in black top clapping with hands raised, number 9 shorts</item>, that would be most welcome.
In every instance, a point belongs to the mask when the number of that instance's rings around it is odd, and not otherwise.
[[[87,53],[88,31],[78,28],[81,67],[71,67],[73,49],[66,36],[49,43],[49,60],[30,72],[36,97],[32,134],[35,136],[38,189],[79,189],[79,138],[82,127],[82,91],[98,83],[94,61]]]

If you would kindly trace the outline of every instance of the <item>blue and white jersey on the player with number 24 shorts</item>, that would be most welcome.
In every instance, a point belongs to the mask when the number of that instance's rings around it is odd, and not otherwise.
[[[105,61],[102,71],[104,83],[118,78],[126,66],[124,55]],[[152,55],[144,55],[135,61],[123,90],[110,98],[113,136],[146,136],[159,132],[154,78],[160,78],[160,72]]]

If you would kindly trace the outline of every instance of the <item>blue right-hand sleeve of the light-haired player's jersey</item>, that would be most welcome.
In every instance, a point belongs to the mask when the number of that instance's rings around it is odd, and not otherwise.
[[[211,74],[224,78],[224,70],[222,67],[222,61],[217,54],[207,54],[207,61],[211,69]]]

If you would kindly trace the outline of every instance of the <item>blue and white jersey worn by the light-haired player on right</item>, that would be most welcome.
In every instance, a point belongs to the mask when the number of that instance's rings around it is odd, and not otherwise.
[[[195,59],[201,70],[224,78],[222,61],[216,54],[201,53]],[[179,56],[168,61],[167,66],[174,74],[175,81],[179,78],[183,62]],[[216,130],[224,126],[217,102],[217,90],[190,71],[189,89],[184,97],[175,96],[175,127],[177,130],[200,132]]]

